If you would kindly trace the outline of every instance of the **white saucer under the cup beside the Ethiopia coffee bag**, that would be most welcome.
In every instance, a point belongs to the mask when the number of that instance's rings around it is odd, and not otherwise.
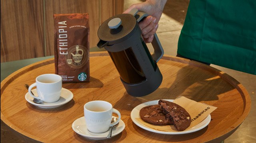
[[[32,89],[31,91],[34,93],[35,96],[38,96],[36,88]],[[56,108],[56,107],[59,107],[59,106],[62,106],[64,104],[66,104],[70,100],[72,100],[73,93],[70,90],[66,89],[66,88],[62,88],[61,89],[61,94],[60,94],[60,99],[56,102],[53,102],[53,103],[45,103],[45,102],[43,104],[34,103],[33,102],[34,98],[32,96],[30,96],[30,94],[28,92],[26,93],[25,98],[30,104],[33,104],[33,105],[41,107],[41,108]]]

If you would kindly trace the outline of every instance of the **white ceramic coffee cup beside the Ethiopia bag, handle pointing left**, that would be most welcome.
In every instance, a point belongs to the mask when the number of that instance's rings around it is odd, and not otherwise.
[[[38,96],[31,93],[31,89],[36,86]],[[60,99],[62,89],[62,78],[58,74],[42,74],[36,77],[36,82],[28,88],[28,93],[33,97],[46,103],[56,102]]]

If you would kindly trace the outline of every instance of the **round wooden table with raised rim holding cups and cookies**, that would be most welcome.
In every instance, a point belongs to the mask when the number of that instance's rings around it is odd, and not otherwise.
[[[157,63],[163,75],[160,87],[147,96],[130,96],[106,52],[90,53],[90,82],[64,83],[73,99],[57,108],[45,109],[26,101],[24,84],[40,74],[54,73],[54,58],[28,65],[1,82],[1,120],[27,142],[44,143],[164,143],[221,142],[230,136],[249,114],[247,90],[228,74],[187,59],[164,55]],[[147,131],[132,122],[133,108],[144,102],[175,99],[178,96],[218,107],[208,126],[194,133],[166,135]],[[126,127],[111,139],[93,140],[78,135],[72,123],[84,116],[83,106],[105,100],[121,113]]]

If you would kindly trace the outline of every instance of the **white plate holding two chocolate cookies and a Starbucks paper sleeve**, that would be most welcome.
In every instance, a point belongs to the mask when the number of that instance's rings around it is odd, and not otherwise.
[[[201,121],[198,125],[190,128],[190,129],[187,129],[185,131],[176,131],[176,132],[168,132],[168,131],[158,131],[158,130],[155,130],[155,129],[152,129],[152,128],[149,128],[149,127],[146,127],[145,125],[143,125],[142,123],[140,123],[139,121],[137,121],[135,118],[140,118],[140,109],[145,107],[145,106],[150,106],[150,105],[156,105],[158,104],[158,101],[159,100],[154,100],[154,101],[149,101],[149,102],[145,102],[145,103],[142,103],[138,106],[136,106],[132,112],[131,112],[131,118],[132,118],[132,121],[138,125],[139,127],[141,127],[142,129],[146,129],[148,131],[152,131],[152,132],[155,132],[155,133],[162,133],[162,134],[170,134],[170,135],[177,135],[177,134],[185,134],[185,133],[192,133],[192,132],[195,132],[195,131],[198,131],[200,129],[203,129],[204,127],[206,127],[210,121],[211,121],[211,116],[208,115],[203,121]],[[170,102],[173,102],[173,100],[167,100],[167,101],[170,101]]]

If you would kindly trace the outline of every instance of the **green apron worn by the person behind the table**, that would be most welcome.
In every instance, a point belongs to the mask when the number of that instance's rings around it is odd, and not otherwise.
[[[256,0],[190,0],[177,53],[256,74]]]

